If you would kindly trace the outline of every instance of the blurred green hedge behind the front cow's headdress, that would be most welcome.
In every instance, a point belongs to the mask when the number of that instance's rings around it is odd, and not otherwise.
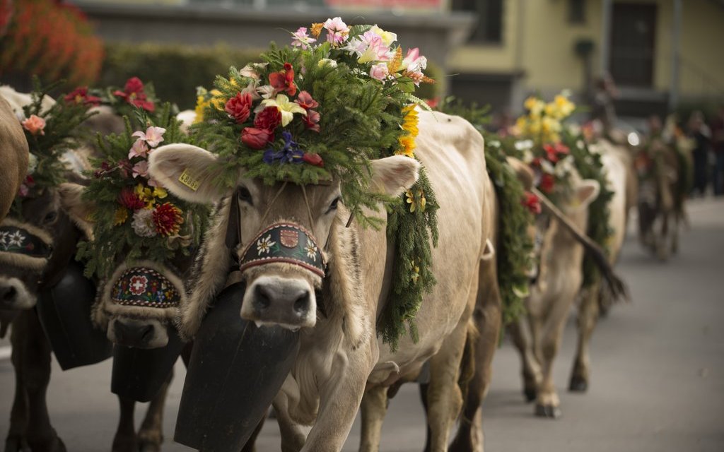
[[[130,77],[152,82],[162,101],[180,109],[194,108],[196,87],[211,88],[216,74],[227,74],[230,66],[244,67],[258,61],[262,49],[239,49],[223,44],[213,47],[174,46],[156,43],[107,43],[99,86],[122,87]],[[430,63],[426,73],[442,80],[442,70]],[[442,83],[421,85],[416,93],[428,99],[439,95]]]

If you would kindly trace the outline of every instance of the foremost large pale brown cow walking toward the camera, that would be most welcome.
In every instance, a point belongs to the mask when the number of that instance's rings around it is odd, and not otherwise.
[[[214,184],[216,156],[207,150],[167,145],[151,155],[149,173],[178,197],[221,201],[202,245],[189,303],[181,309],[180,331],[186,337],[193,337],[209,302],[227,283],[232,254],[242,259],[245,247],[264,241],[266,236],[257,236],[269,226],[287,225],[290,235],[305,235],[319,250],[313,253],[316,262],[322,255],[327,260],[324,277],[319,269],[285,262],[242,272],[247,286],[241,317],[259,325],[301,329],[298,358],[274,401],[285,432],[282,450],[340,451],[364,391],[390,388],[417,375],[428,360],[432,448],[447,450],[448,431],[462,404],[458,368],[477,296],[480,260],[492,239],[494,197],[483,139],[471,124],[424,112],[419,129],[416,155],[443,200],[439,246],[432,250],[438,283],[417,312],[418,340],[404,336],[394,351],[377,338],[375,325],[390,291],[394,247],[384,230],[359,228],[354,222],[345,227],[350,213],[340,202],[339,180],[268,186],[241,172],[236,187],[224,191]],[[179,182],[186,169],[198,176],[195,190]],[[375,160],[369,187],[400,195],[416,182],[418,171],[419,163],[403,155]],[[230,218],[233,211],[239,213]],[[380,213],[369,214],[384,221]],[[235,237],[232,252],[225,243],[227,229]],[[326,315],[318,315],[320,305]],[[313,425],[308,435],[303,425]]]

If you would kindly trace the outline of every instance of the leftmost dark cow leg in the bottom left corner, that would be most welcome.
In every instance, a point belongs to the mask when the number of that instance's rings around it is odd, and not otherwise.
[[[28,392],[25,389],[22,375],[22,362],[25,359],[25,337],[28,334],[26,325],[18,320],[12,325],[10,343],[12,344],[12,367],[15,372],[15,396],[10,411],[10,428],[5,439],[5,452],[30,451],[25,431],[28,430]]]

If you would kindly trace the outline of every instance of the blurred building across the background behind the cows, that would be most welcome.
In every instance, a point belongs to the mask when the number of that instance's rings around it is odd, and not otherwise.
[[[585,98],[610,73],[622,114],[724,95],[724,0],[83,0],[108,40],[264,48],[333,15],[394,30],[466,101]]]

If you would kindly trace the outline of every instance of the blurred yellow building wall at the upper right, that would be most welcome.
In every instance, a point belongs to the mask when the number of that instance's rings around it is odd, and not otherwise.
[[[667,92],[672,76],[673,0],[615,2],[658,5],[653,88]],[[724,45],[724,7],[710,0],[685,0],[682,4],[681,95],[721,94],[724,91],[724,52],[720,48]],[[602,0],[587,1],[586,22],[580,25],[568,22],[566,0],[505,0],[504,14],[502,43],[458,49],[448,61],[452,72],[521,71],[525,74],[524,90],[542,93],[562,88],[581,90],[584,65],[573,51],[576,40],[581,38],[594,41],[592,70],[594,76],[601,72]]]

